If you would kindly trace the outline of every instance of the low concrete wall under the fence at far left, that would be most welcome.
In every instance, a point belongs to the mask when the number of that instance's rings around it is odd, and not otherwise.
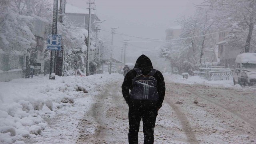
[[[16,78],[22,78],[22,70],[0,72],[0,82],[9,82]]]

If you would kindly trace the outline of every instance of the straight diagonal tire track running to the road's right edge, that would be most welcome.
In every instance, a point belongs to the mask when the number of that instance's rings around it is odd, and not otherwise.
[[[226,111],[230,112],[232,115],[235,115],[237,118],[243,120],[244,122],[247,122],[248,124],[252,125],[254,128],[256,128],[256,123],[253,122],[252,120],[249,120],[248,118],[246,118],[245,116],[242,116],[241,114],[238,114],[237,112],[235,112],[234,110],[230,109],[230,108],[226,108],[225,106],[223,106],[222,104],[219,104],[217,102],[214,102],[213,100],[210,100],[209,98],[206,98],[204,96],[200,96],[200,94],[196,93],[194,90],[190,90],[188,88],[183,88],[184,90],[190,92],[191,94],[193,94],[194,96],[198,97],[198,98],[202,98],[208,102],[211,102],[212,104],[225,109]]]

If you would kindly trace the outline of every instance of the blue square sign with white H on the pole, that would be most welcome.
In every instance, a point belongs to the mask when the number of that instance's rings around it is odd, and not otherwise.
[[[61,35],[48,34],[47,49],[48,50],[61,50]]]

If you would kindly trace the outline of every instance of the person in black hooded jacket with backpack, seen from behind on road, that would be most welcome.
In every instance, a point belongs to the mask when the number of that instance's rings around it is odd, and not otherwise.
[[[156,116],[164,100],[165,83],[162,73],[153,68],[150,58],[141,55],[137,59],[134,69],[124,77],[122,95],[129,106],[129,144],[138,144],[141,119],[144,144],[153,144]]]

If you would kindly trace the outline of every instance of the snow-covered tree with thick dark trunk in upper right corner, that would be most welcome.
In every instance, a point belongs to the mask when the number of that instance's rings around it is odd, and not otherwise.
[[[256,22],[255,0],[204,0],[200,8],[215,13],[215,20],[222,28],[232,28],[228,36],[229,44],[243,46],[244,52],[250,50],[254,25]]]

